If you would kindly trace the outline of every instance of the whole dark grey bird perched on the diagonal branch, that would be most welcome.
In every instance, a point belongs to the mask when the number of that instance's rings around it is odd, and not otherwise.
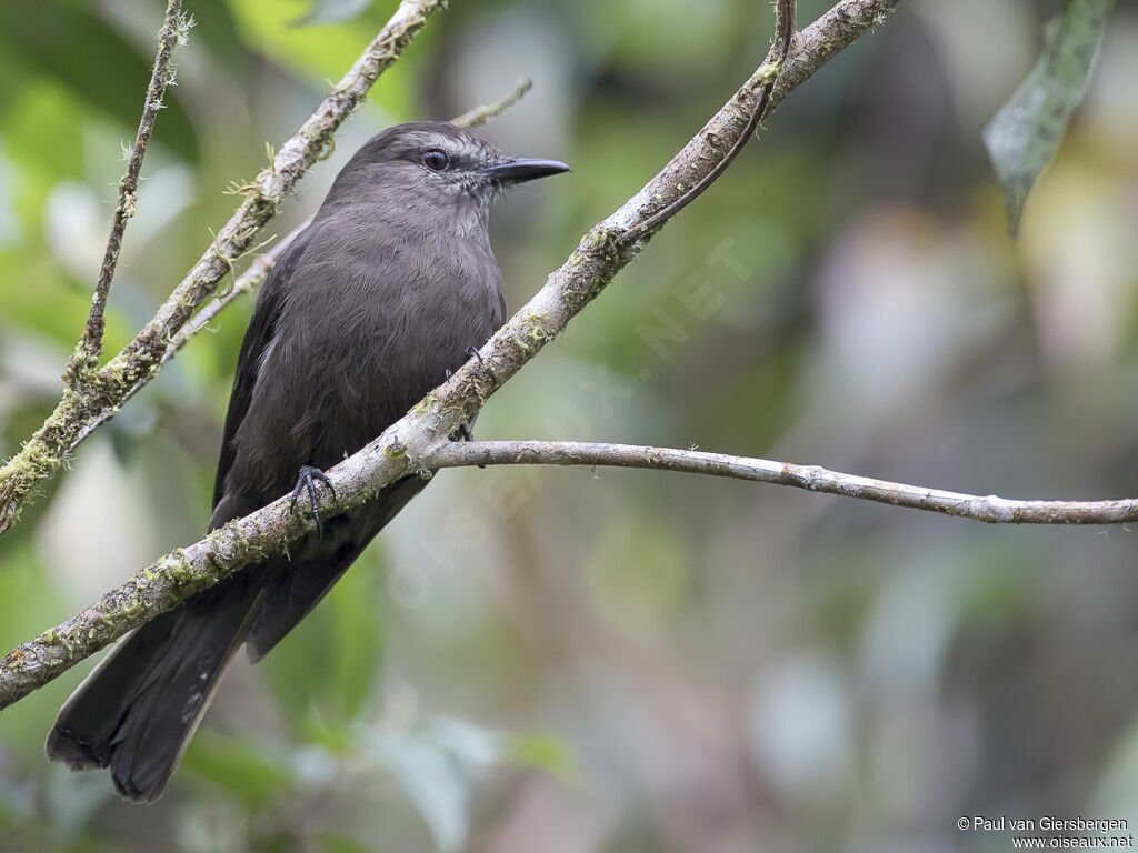
[[[213,530],[292,490],[318,524],[291,557],[251,565],[127,636],[63,706],[47,752],[109,768],[133,801],[162,794],[244,643],[264,656],[424,486],[320,519],[323,469],[355,453],[476,353],[505,320],[490,202],[568,171],[510,158],[443,122],[391,127],[344,167],[270,273],[237,366]],[[322,486],[321,486],[322,483]]]

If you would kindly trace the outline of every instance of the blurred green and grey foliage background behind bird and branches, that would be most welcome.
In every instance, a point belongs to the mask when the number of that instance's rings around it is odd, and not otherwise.
[[[109,348],[395,2],[306,25],[308,0],[187,6]],[[1135,496],[1138,14],[1119,6],[1017,241],[981,130],[1058,2],[905,2],[492,400],[480,437]],[[0,455],[59,392],[162,9],[0,0]],[[485,132],[575,171],[497,208],[517,307],[753,71],[770,23],[749,0],[455,2],[269,233],[371,134],[529,76]],[[250,307],[0,541],[5,648],[198,538]],[[88,668],[0,713],[0,850],[1009,848],[956,828],[976,814],[1133,831],[1136,546],[681,474],[448,471],[262,665],[237,662],[158,804],[43,760]]]

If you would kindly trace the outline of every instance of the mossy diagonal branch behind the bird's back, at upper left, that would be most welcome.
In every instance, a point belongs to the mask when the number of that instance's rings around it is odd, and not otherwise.
[[[336,131],[361,103],[376,78],[395,64],[427,18],[444,6],[445,0],[403,0],[270,166],[251,183],[233,189],[245,201],[134,340],[98,372],[92,366],[81,387],[65,383],[63,397],[43,425],[0,467],[0,535],[16,521],[19,507],[36,483],[59,470],[84,426],[96,419],[113,417],[137,386],[154,378],[174,336],[217,289],[233,263],[253,248],[257,232],[275,215],[308,168],[327,155]]]

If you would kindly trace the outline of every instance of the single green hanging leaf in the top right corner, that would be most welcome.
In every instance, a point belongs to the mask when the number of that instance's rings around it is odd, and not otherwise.
[[[1048,22],[1044,52],[1015,94],[984,129],[984,146],[1004,187],[1008,232],[1020,231],[1031,187],[1058,150],[1087,90],[1095,51],[1114,0],[1067,0]]]

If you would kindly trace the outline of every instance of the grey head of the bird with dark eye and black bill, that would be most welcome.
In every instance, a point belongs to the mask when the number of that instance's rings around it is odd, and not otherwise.
[[[411,122],[372,136],[340,172],[329,202],[438,204],[485,213],[506,187],[568,172],[558,160],[508,157],[448,122]]]

